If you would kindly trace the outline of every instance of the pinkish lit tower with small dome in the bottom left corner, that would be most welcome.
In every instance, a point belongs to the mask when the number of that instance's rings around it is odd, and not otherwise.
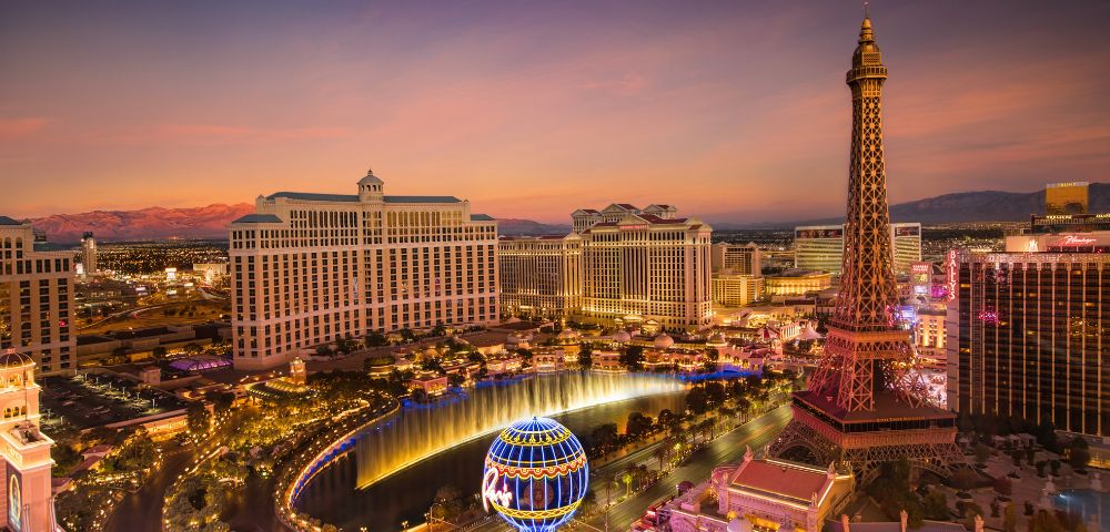
[[[13,532],[54,532],[50,470],[54,441],[39,430],[39,385],[34,361],[9,350],[0,355],[0,528]]]

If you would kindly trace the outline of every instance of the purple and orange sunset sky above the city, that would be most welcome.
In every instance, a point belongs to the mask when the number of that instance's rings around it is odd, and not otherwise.
[[[1110,2],[885,1],[891,201],[1110,181]],[[0,4],[0,214],[452,194],[844,211],[845,1]]]

